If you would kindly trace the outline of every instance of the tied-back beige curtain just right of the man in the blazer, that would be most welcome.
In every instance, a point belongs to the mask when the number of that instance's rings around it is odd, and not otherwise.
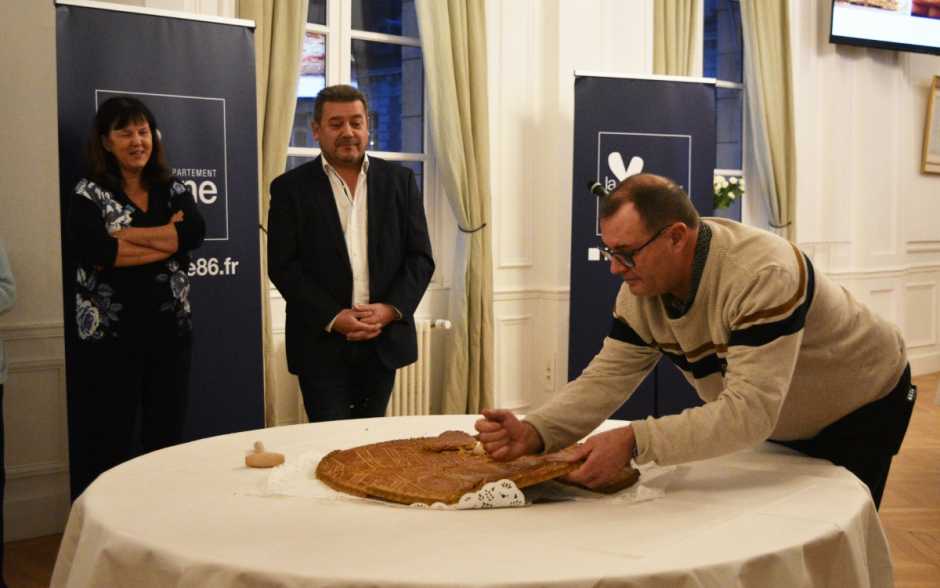
[[[444,374],[445,413],[493,405],[493,261],[481,0],[417,0],[434,161],[460,224],[451,290],[454,332]],[[481,228],[482,227],[482,228]]]

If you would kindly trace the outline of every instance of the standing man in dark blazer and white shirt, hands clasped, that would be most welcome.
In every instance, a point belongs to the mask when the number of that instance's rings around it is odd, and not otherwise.
[[[318,95],[320,156],[271,183],[268,275],[287,301],[287,366],[311,422],[383,416],[417,359],[413,314],[434,272],[411,170],[365,153],[368,103]]]

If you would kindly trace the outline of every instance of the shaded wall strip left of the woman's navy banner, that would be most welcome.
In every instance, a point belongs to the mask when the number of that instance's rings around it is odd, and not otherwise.
[[[4,386],[6,539],[52,533],[68,512],[65,365],[59,253],[54,9],[14,0],[0,19],[0,239],[17,303],[0,317],[10,373]]]

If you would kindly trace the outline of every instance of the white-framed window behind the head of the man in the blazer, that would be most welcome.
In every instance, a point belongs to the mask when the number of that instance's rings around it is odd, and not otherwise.
[[[366,95],[370,153],[411,168],[423,188],[424,63],[414,0],[310,0],[288,169],[319,154],[313,103],[333,84]]]

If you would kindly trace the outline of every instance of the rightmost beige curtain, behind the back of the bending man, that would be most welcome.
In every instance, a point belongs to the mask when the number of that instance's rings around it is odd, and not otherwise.
[[[796,239],[796,140],[788,2],[742,0],[745,153],[749,192],[766,198],[771,227]]]

